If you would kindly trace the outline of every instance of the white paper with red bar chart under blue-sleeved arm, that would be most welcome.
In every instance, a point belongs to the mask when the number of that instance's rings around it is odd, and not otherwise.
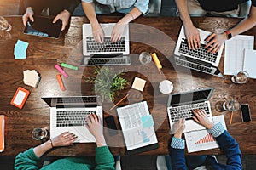
[[[221,122],[225,127],[224,116],[213,116],[213,123]],[[188,152],[195,152],[201,150],[211,150],[218,148],[218,143],[211,133],[207,130],[193,131],[185,133],[185,139]]]

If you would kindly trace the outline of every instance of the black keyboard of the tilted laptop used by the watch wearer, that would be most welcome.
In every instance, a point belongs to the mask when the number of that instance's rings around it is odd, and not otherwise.
[[[200,48],[192,49],[188,46],[188,40],[183,38],[179,47],[178,52],[182,54],[188,54],[190,56],[193,56],[198,59],[204,59],[206,61],[209,61],[211,63],[215,63],[217,59],[217,53],[208,53],[207,50],[209,48],[205,48],[206,44],[201,43]]]

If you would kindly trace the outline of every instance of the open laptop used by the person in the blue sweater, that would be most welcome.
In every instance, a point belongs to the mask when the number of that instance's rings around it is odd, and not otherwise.
[[[194,116],[192,111],[195,109],[205,110],[209,120],[212,122],[212,110],[209,102],[212,92],[213,88],[206,88],[179,94],[170,94],[167,103],[167,113],[172,134],[174,133],[172,125],[181,118],[185,118],[185,129],[183,133],[205,129],[205,127],[195,122],[192,118]]]

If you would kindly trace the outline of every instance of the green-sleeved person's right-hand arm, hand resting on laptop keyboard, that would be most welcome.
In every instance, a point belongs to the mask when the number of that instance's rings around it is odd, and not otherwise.
[[[96,167],[95,169],[114,169],[113,155],[108,150],[102,132],[101,117],[94,114],[87,117],[87,129],[96,139]]]

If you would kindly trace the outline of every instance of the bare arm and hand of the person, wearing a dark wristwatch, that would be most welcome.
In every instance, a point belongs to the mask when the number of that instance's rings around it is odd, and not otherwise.
[[[252,6],[250,9],[250,13],[248,14],[247,18],[241,20],[241,22],[236,25],[235,27],[230,29],[230,33],[232,34],[232,37],[241,34],[244,31],[247,31],[253,26],[256,26],[256,7]],[[223,32],[221,34],[212,33],[210,37],[207,37],[207,45],[205,48],[208,48],[212,45],[211,48],[208,49],[208,52],[212,51],[212,53],[215,53],[219,50],[221,45],[224,43],[225,40],[227,40],[228,37],[226,36],[226,33]]]

